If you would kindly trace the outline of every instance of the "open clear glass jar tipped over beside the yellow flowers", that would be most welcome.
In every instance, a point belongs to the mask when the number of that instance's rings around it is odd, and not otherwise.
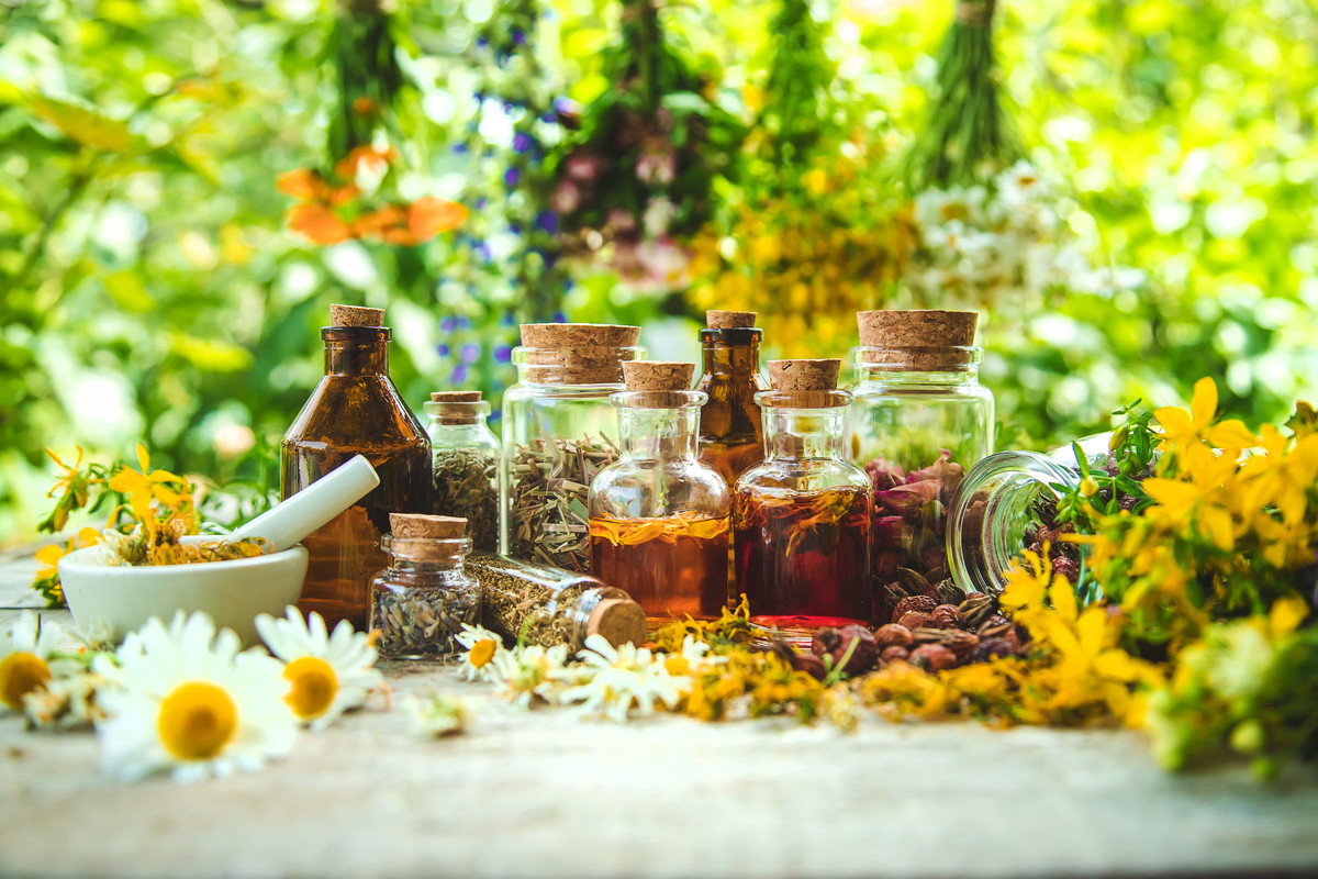
[[[1111,434],[1078,440],[1081,453],[1094,468],[1104,467]],[[1062,490],[1079,486],[1081,473],[1070,445],[1048,455],[998,452],[966,473],[948,506],[948,573],[965,592],[998,594],[1007,585],[1007,571],[1023,550],[1050,544],[1053,569],[1079,588],[1082,598],[1094,598],[1085,582],[1083,544],[1060,540],[1061,528],[1048,519]]]

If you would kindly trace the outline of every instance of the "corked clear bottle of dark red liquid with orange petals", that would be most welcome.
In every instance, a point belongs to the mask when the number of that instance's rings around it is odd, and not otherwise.
[[[737,586],[759,642],[805,646],[821,626],[867,625],[870,478],[842,459],[851,395],[837,360],[770,361],[763,461],[733,489]]]

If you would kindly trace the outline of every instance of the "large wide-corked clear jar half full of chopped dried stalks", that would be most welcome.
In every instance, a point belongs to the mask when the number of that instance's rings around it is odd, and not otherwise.
[[[623,390],[623,361],[645,357],[639,337],[639,327],[522,326],[522,345],[513,351],[517,383],[503,394],[505,553],[590,571],[590,482],[618,460],[609,395]]]

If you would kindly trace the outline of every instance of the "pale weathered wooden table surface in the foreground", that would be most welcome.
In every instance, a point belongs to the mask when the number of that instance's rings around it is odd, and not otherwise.
[[[0,625],[29,563],[0,568]],[[71,625],[65,611],[49,618]],[[1033,876],[1318,872],[1318,774],[1166,775],[1128,731],[867,717],[617,725],[518,712],[449,668],[385,666],[477,705],[423,742],[377,702],[254,775],[98,771],[91,734],[0,716],[0,875]]]

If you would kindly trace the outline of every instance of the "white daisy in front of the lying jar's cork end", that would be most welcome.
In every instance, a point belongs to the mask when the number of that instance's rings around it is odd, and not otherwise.
[[[585,713],[622,722],[633,705],[642,716],[654,714],[655,701],[675,708],[683,693],[691,692],[691,679],[670,675],[664,658],[647,647],[627,643],[616,648],[601,635],[590,635],[585,646],[577,659],[594,673],[561,696],[564,702],[581,702]]]

